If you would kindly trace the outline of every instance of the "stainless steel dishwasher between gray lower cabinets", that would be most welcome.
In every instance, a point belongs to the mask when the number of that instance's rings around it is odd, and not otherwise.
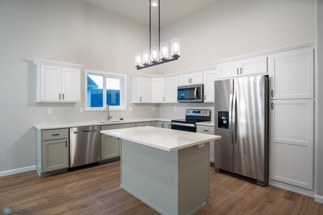
[[[100,126],[70,128],[70,168],[100,160]]]

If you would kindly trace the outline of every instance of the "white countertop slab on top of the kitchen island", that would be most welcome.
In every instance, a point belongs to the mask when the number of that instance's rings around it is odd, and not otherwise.
[[[174,151],[194,145],[199,145],[201,143],[209,142],[212,140],[221,139],[221,136],[218,135],[202,134],[151,126],[103,130],[100,132],[102,134],[119,137],[121,139],[166,151]]]

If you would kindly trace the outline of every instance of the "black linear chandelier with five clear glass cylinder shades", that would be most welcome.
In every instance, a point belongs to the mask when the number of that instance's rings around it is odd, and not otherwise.
[[[150,8],[151,6],[156,7],[158,5],[158,42],[159,48],[157,46],[151,47],[151,20],[150,20]],[[136,53],[135,55],[135,67],[137,70],[164,64],[167,62],[178,60],[180,57],[180,39],[174,38],[171,40],[171,57],[168,57],[168,43],[160,43],[160,5],[159,0],[149,0],[149,50],[143,50],[141,53]]]

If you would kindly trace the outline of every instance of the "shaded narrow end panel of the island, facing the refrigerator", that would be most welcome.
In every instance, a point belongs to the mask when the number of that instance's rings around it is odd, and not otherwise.
[[[179,150],[179,214],[194,214],[209,196],[209,142]]]

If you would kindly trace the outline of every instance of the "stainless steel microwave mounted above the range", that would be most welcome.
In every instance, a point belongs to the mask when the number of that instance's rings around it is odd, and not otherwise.
[[[178,102],[204,102],[204,85],[188,85],[177,87]]]

